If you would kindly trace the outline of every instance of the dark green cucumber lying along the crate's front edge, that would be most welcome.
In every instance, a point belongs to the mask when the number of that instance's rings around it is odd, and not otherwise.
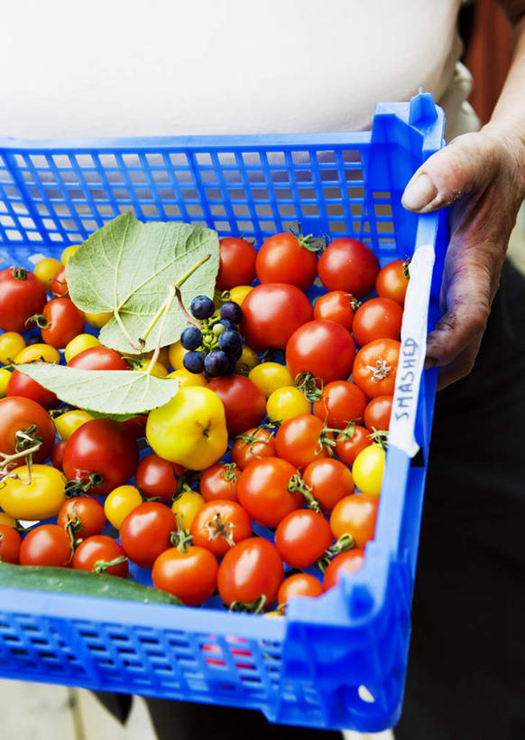
[[[176,596],[158,588],[108,576],[106,573],[88,573],[69,567],[14,566],[0,563],[0,588],[127,599],[142,601],[143,604],[182,604]]]

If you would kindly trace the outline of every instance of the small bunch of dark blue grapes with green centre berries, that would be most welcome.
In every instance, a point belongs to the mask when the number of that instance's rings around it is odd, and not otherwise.
[[[211,377],[230,375],[235,362],[243,353],[243,338],[237,331],[243,319],[243,309],[234,301],[226,301],[215,313],[213,301],[206,295],[198,295],[189,306],[191,315],[197,319],[180,334],[180,344],[189,350],[183,364],[189,372],[205,372]]]

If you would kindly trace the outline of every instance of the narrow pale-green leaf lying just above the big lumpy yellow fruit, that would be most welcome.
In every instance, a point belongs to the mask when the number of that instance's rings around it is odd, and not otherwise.
[[[138,370],[78,370],[51,362],[14,365],[60,400],[112,418],[143,414],[168,403],[179,389],[176,378],[155,378]]]

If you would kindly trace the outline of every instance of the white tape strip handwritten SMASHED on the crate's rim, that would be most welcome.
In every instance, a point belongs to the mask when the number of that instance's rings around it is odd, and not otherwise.
[[[428,333],[428,295],[436,252],[432,244],[416,249],[410,261],[410,281],[401,327],[401,351],[396,376],[389,445],[413,457],[419,451],[415,436],[419,385]]]

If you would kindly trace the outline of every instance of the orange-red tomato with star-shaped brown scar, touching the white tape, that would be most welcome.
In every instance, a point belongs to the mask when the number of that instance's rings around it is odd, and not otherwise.
[[[355,355],[355,385],[367,398],[393,396],[401,343],[394,339],[375,339]]]

